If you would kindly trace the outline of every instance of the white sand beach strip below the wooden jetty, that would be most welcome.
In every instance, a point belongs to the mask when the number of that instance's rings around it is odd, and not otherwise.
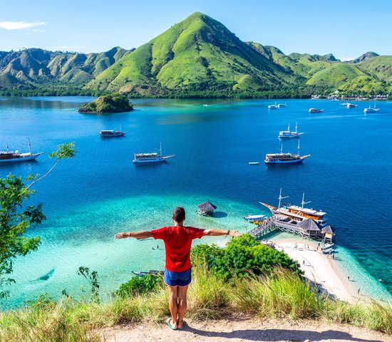
[[[289,257],[298,261],[306,278],[316,281],[332,296],[351,303],[360,299],[350,281],[336,268],[336,260],[317,251],[316,242],[275,239],[274,244],[275,248],[283,250]],[[309,249],[306,246],[309,246]]]

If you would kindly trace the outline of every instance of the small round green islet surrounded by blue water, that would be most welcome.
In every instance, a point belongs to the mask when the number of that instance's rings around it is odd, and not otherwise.
[[[133,110],[133,104],[122,93],[103,95],[79,108],[79,113],[123,113]]]

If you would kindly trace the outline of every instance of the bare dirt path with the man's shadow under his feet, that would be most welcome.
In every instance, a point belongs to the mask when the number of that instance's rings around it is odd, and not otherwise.
[[[222,319],[218,321],[187,321],[183,331],[172,331],[165,324],[137,323],[97,331],[106,342],[392,342],[391,336],[349,325],[315,321],[258,321],[255,319]]]

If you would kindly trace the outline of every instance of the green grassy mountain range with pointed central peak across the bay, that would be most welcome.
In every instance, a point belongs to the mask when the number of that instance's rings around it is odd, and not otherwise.
[[[331,53],[284,54],[243,42],[200,12],[133,50],[0,51],[0,93],[125,92],[137,96],[307,96],[392,93],[392,56],[367,52],[341,62]]]

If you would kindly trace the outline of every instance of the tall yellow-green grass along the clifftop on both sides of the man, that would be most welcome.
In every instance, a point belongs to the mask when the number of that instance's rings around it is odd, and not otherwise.
[[[348,304],[321,297],[289,271],[248,276],[225,283],[202,264],[192,269],[187,317],[217,318],[227,313],[259,317],[314,318],[366,326],[392,334],[392,306],[377,301]],[[94,328],[134,321],[163,321],[169,316],[168,291],[161,286],[146,296],[114,297],[105,304],[61,299],[56,304],[0,314],[0,341],[98,341]]]

